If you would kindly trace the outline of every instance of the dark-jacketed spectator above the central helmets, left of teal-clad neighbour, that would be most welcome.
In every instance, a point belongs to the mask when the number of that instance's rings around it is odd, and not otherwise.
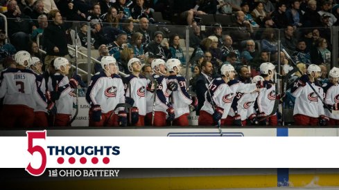
[[[164,43],[164,46],[162,46],[162,40],[164,39],[164,33],[161,31],[154,32],[154,39],[150,42],[150,44],[146,45],[144,48],[145,53],[150,52],[155,55],[157,59],[166,59],[170,56],[169,52],[169,44]]]

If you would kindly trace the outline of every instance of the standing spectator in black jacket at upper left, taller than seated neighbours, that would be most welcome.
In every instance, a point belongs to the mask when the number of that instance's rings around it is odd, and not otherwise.
[[[43,44],[46,49],[45,68],[49,68],[49,64],[56,57],[65,57],[69,59],[69,51],[67,48],[66,30],[71,28],[71,23],[63,23],[59,10],[51,10],[49,12],[49,26],[44,29]]]

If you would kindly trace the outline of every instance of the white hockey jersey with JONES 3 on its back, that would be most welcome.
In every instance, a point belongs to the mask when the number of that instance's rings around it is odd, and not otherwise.
[[[0,75],[0,98],[3,104],[25,105],[30,108],[46,107],[46,99],[37,88],[32,70],[8,68]]]

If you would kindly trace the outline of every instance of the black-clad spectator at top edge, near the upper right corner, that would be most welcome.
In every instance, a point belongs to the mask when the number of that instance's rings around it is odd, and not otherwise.
[[[307,8],[304,13],[304,27],[318,27],[320,26],[320,15],[318,14],[317,1],[309,0],[307,2]]]

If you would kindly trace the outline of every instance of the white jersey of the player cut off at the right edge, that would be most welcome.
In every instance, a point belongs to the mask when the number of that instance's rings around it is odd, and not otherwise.
[[[324,102],[330,108],[332,108],[333,104],[339,102],[339,85],[338,84],[333,85],[330,82],[328,82],[328,83],[323,84],[322,88],[324,89],[324,93],[325,93]],[[339,120],[339,115],[331,113],[327,108],[324,108],[324,113],[327,117]]]

